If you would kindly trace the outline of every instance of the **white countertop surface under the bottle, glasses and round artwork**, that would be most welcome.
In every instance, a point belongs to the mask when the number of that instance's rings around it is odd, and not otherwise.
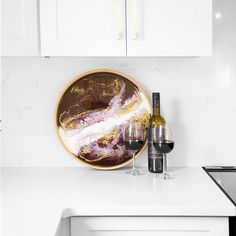
[[[174,179],[160,181],[151,173],[129,176],[124,169],[2,168],[3,235],[52,236],[70,216],[236,214],[201,168],[171,173]]]

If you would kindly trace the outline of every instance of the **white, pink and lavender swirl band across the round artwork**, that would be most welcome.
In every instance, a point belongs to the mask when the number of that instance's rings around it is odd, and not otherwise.
[[[126,85],[121,84],[120,92],[114,96],[107,108],[86,113],[74,120],[76,129],[65,130],[59,127],[59,134],[69,150],[87,162],[102,159],[120,162],[121,158],[131,157],[122,143],[123,126],[131,118],[140,119],[150,114],[146,97],[138,89],[133,95],[124,99]],[[102,145],[98,141],[113,133],[113,138]],[[89,155],[81,155],[86,150]]]

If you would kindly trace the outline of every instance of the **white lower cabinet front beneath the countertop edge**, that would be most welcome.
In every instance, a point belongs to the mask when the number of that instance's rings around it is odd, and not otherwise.
[[[72,217],[71,236],[228,236],[227,217]]]

